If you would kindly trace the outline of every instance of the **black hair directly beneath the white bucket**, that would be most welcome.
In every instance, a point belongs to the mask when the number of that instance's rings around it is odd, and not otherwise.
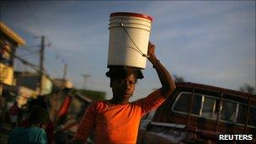
[[[127,67],[127,66],[109,66],[109,72],[106,72],[106,76],[110,79],[127,77],[134,74],[136,79],[142,79],[144,76],[141,69],[137,67]]]

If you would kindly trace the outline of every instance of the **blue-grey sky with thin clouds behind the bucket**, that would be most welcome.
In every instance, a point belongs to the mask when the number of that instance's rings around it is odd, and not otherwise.
[[[83,85],[81,74],[89,74],[87,88],[106,92],[107,99],[109,14],[120,11],[153,17],[150,40],[169,72],[193,83],[255,88],[255,1],[1,1],[1,21],[28,49],[40,45],[35,36],[51,43],[45,68],[52,77],[62,77],[67,63],[67,77],[77,88]],[[38,62],[36,55],[25,58]],[[161,86],[149,61],[143,73],[133,99]]]

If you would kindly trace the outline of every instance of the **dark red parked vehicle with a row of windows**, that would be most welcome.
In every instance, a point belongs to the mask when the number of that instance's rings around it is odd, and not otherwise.
[[[176,87],[162,106],[141,119],[138,144],[256,143],[255,95],[198,83]],[[253,140],[220,141],[219,134],[253,135]]]

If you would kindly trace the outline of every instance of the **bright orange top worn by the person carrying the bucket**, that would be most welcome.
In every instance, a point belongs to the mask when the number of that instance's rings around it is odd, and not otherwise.
[[[164,100],[157,90],[129,104],[110,104],[107,100],[94,102],[83,115],[74,139],[85,141],[94,128],[96,143],[136,143],[142,115]]]

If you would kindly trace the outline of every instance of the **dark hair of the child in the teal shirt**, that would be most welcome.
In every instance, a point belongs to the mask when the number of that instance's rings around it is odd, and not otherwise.
[[[47,110],[41,108],[40,106],[34,105],[30,111],[29,123],[30,124],[47,124],[50,122],[50,118]]]

